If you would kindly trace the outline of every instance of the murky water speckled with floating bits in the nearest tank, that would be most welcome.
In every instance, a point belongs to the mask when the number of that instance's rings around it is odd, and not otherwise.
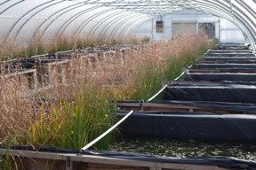
[[[112,143],[110,151],[124,151],[161,157],[225,156],[256,161],[256,144],[203,143],[194,140],[122,140]]]

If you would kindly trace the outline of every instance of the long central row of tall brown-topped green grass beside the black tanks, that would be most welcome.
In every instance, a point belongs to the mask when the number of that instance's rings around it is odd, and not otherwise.
[[[148,99],[164,79],[199,58],[206,43],[204,37],[180,37],[94,62],[81,50],[80,57],[55,70],[51,88],[33,96],[25,95],[31,91],[28,83],[20,85],[26,78],[2,78],[0,142],[80,149],[115,122],[112,99]],[[65,83],[60,82],[63,73]],[[106,149],[112,139],[108,135],[94,148]]]

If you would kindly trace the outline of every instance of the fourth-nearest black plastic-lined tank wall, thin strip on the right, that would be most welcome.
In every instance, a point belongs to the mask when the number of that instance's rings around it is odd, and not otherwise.
[[[255,64],[196,64],[191,68],[254,68],[256,69]]]

